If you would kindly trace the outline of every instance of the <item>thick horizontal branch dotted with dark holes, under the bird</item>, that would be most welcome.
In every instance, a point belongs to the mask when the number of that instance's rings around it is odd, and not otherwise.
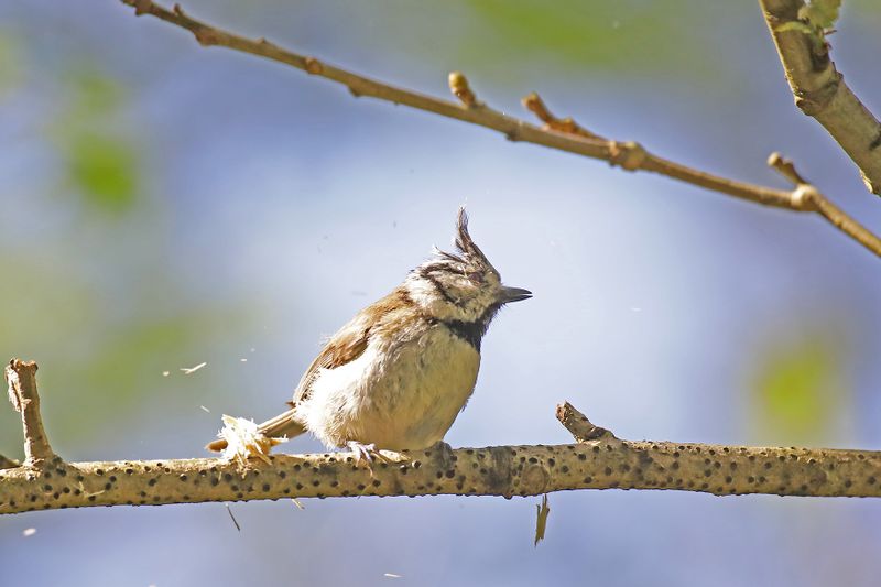
[[[32,362],[12,363],[17,373],[36,371]],[[30,381],[25,394],[35,400],[33,377]],[[35,401],[25,406],[26,431],[40,421],[37,407]],[[43,446],[44,460],[41,467],[0,469],[0,513],[311,497],[511,498],[572,489],[881,497],[879,452],[621,441],[568,403],[557,407],[557,417],[578,443],[437,447],[377,460],[371,469],[349,453],[273,455],[246,465],[220,458],[65,463],[48,459],[48,445],[34,443],[26,432],[25,445],[34,445],[31,454]]]

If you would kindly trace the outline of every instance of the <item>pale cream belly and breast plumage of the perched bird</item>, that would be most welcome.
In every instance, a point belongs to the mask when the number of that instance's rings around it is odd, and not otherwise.
[[[403,343],[376,337],[358,359],[319,371],[297,420],[327,446],[424,448],[453,425],[479,368],[480,354],[439,325]]]

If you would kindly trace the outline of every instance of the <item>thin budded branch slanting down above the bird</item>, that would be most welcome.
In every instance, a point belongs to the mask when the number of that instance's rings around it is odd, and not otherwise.
[[[666,175],[714,192],[719,192],[737,198],[754,202],[764,206],[773,206],[794,211],[813,211],[829,220],[839,230],[850,236],[863,247],[881,257],[881,239],[872,235],[856,220],[835,207],[825,197],[820,206],[814,198],[804,198],[797,189],[784,191],[763,187],[755,184],[738,182],[706,173],[693,167],[665,160],[646,151],[641,144],[632,141],[619,142],[606,140],[577,124],[572,126],[570,119],[557,120],[543,118],[540,111],[533,108],[541,104],[537,95],[524,98],[524,104],[535,112],[545,123],[544,128],[530,124],[518,118],[494,110],[477,100],[465,76],[454,72],[449,76],[450,89],[461,104],[442,100],[403,88],[398,88],[382,81],[335,67],[315,57],[304,56],[286,51],[265,39],[251,40],[233,33],[214,28],[187,15],[180,4],[173,10],[167,10],[151,0],[121,0],[124,4],[134,7],[135,14],[151,14],[163,21],[181,26],[196,37],[203,46],[218,45],[250,53],[280,62],[311,75],[325,77],[342,84],[356,96],[371,96],[373,98],[410,106],[412,108],[434,112],[447,118],[461,120],[496,130],[511,141],[522,141],[540,144],[578,155],[608,161],[611,165],[620,166],[627,171],[649,171]],[[544,113],[546,108],[542,104]],[[548,115],[550,116],[550,115]],[[574,124],[574,123],[573,123]],[[816,192],[816,191],[815,191]],[[819,192],[816,192],[819,195]],[[826,210],[824,213],[823,210]]]

